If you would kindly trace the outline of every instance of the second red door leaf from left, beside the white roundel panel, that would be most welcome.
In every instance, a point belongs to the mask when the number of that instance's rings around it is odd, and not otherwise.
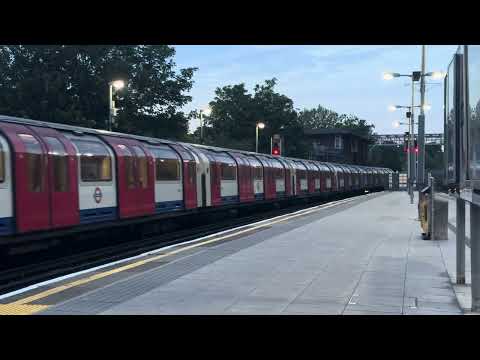
[[[54,129],[33,126],[30,129],[47,148],[51,225],[54,228],[77,225],[80,222],[80,210],[75,148],[62,133]]]

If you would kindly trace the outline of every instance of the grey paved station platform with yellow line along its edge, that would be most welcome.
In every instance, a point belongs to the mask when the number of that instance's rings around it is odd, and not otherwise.
[[[373,193],[0,298],[0,311],[462,314],[441,243],[422,240],[405,192]]]

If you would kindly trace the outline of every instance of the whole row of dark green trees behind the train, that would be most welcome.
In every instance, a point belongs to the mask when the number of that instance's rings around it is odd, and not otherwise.
[[[125,79],[119,91],[114,131],[200,142],[200,131],[188,133],[197,111],[181,109],[197,68],[177,69],[175,49],[168,45],[15,45],[0,46],[0,114],[105,129],[109,113],[108,84]],[[321,105],[295,109],[293,100],[276,91],[277,79],[255,85],[218,87],[205,117],[206,144],[254,150],[255,126],[264,122],[259,148],[270,149],[270,137],[281,134],[285,154],[306,156],[305,129],[350,128],[370,136],[374,126],[354,115]]]

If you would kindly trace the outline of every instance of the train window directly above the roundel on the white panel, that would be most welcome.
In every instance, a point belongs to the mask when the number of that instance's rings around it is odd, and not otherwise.
[[[96,141],[72,140],[80,153],[80,174],[84,182],[111,181],[112,160],[105,145]]]

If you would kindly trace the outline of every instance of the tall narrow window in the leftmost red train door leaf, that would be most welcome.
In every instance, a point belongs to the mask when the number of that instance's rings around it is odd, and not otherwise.
[[[32,192],[42,192],[45,183],[42,147],[32,135],[18,134],[18,136],[22,139],[26,149],[28,189]]]

